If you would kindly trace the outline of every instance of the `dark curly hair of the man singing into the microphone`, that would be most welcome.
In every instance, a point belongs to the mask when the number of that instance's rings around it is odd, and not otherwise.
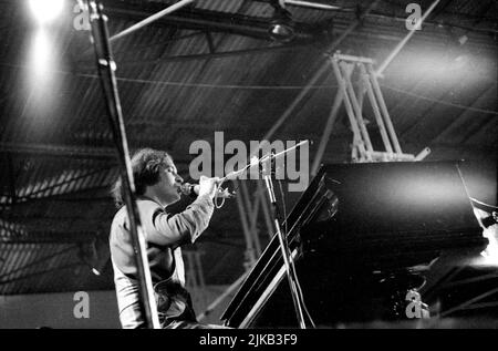
[[[136,195],[144,195],[146,187],[159,182],[159,173],[168,166],[173,166],[173,158],[164,151],[141,148],[132,156],[132,171],[135,179]],[[123,180],[117,177],[111,190],[117,208],[124,204]]]

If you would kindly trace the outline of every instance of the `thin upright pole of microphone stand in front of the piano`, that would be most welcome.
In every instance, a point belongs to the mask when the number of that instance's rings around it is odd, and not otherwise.
[[[266,158],[266,157],[264,157]],[[277,235],[279,237],[279,242],[280,242],[280,250],[282,252],[282,257],[283,257],[283,265],[286,267],[286,272],[287,272],[287,278],[289,281],[289,288],[290,288],[290,292],[292,296],[292,301],[294,303],[294,309],[295,309],[295,314],[298,318],[298,322],[299,322],[299,327],[301,329],[305,329],[307,324],[304,322],[304,316],[302,312],[302,301],[301,301],[301,296],[298,292],[298,278],[295,275],[295,268],[294,268],[294,262],[292,259],[292,256],[290,255],[290,249],[289,249],[289,244],[287,241],[287,233],[282,233],[281,228],[280,228],[280,223],[281,223],[281,214],[280,214],[280,209],[277,203],[277,197],[274,196],[274,189],[273,189],[273,180],[271,179],[271,175],[274,173],[274,159],[276,156],[273,154],[271,154],[268,159],[266,159],[266,162],[260,162],[260,172],[262,168],[262,176],[264,179],[264,185],[267,186],[267,190],[268,190],[268,195],[270,197],[270,203],[271,203],[271,207],[272,207],[272,215],[273,215],[273,223],[274,223],[274,227],[277,230]],[[269,169],[268,169],[269,167]]]

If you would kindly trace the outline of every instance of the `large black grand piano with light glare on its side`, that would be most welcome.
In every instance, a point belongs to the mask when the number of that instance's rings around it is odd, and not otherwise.
[[[406,319],[407,291],[437,285],[430,267],[442,256],[471,257],[486,248],[458,167],[459,162],[321,167],[282,224],[307,326]],[[221,320],[232,328],[299,328],[287,279],[273,236]]]

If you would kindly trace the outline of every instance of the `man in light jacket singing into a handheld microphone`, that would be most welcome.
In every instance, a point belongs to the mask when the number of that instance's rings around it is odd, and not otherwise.
[[[137,207],[144,230],[154,295],[163,328],[222,328],[199,324],[190,295],[185,289],[180,246],[194,242],[212,216],[212,198],[218,178],[200,177],[198,196],[177,215],[166,206],[180,198],[181,177],[172,157],[162,151],[144,148],[132,157]],[[120,210],[111,226],[110,246],[114,269],[120,320],[123,328],[144,328],[138,302],[137,268],[127,211],[123,206],[123,186],[118,179],[113,196]]]

